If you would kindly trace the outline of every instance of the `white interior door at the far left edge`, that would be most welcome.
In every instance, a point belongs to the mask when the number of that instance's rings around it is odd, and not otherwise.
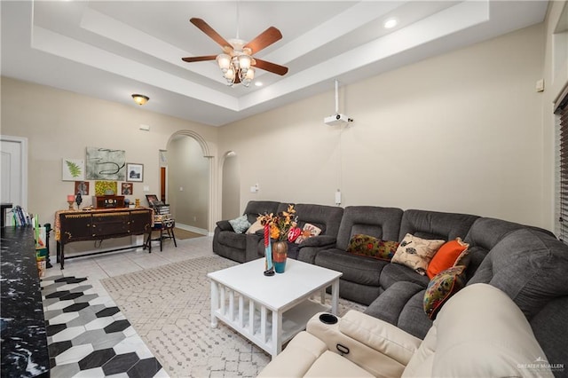
[[[0,201],[28,209],[28,139],[0,136]],[[6,223],[10,224],[10,223]]]

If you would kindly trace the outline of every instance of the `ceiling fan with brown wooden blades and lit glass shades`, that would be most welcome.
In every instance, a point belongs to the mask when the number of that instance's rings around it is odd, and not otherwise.
[[[265,47],[270,46],[272,43],[280,40],[282,34],[280,30],[274,27],[267,28],[259,35],[246,43],[245,41],[237,38],[225,40],[207,22],[201,19],[192,18],[190,22],[199,28],[203,33],[217,42],[222,48],[223,53],[218,55],[205,55],[201,57],[187,57],[182,58],[185,62],[192,63],[204,60],[217,60],[217,64],[223,76],[227,81],[227,85],[242,83],[248,87],[255,77],[255,68],[264,69],[265,71],[272,72],[277,75],[286,75],[288,67],[283,67],[275,63],[253,58],[256,52],[263,50]],[[237,33],[238,34],[238,33]]]

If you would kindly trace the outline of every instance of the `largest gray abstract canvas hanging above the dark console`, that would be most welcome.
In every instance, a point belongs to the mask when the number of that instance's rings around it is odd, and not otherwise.
[[[85,168],[88,180],[124,181],[126,152],[112,148],[87,147]]]

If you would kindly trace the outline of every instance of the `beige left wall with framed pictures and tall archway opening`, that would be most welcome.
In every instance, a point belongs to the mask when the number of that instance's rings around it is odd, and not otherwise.
[[[140,124],[150,131],[138,130]],[[128,162],[144,164],[144,183],[135,183],[128,197],[146,205],[143,185],[159,194],[159,150],[179,130],[198,133],[217,151],[217,128],[148,112],[133,102],[126,106],[2,78],[1,133],[28,138],[28,211],[42,224],[52,224],[55,211],[67,209],[66,195],[74,191],[73,182],[61,181],[61,159],[84,159],[86,146],[123,149]],[[90,204],[84,198],[83,205]]]

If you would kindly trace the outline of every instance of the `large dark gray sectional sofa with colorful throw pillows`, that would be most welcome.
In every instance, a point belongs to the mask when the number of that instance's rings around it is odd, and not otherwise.
[[[254,223],[258,214],[287,206],[251,201],[245,214]],[[406,233],[423,239],[461,237],[469,243],[467,285],[488,283],[508,294],[525,313],[548,362],[564,364],[564,373],[558,375],[568,375],[568,246],[551,232],[500,219],[417,209],[298,204],[296,211],[302,222],[325,230],[304,240],[296,258],[343,272],[341,297],[366,304],[368,315],[421,339],[432,326],[422,305],[429,278],[406,265],[353,255],[347,246],[357,233],[397,241]],[[235,234],[227,224],[217,223],[215,253],[239,262],[264,256],[262,232]]]

